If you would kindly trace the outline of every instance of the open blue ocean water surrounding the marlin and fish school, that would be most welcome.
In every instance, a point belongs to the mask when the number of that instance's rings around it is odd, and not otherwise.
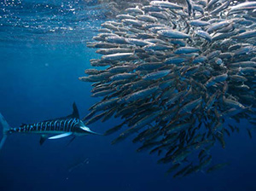
[[[86,42],[108,11],[96,1],[1,1],[0,112],[13,127],[72,113],[81,117],[96,101],[90,84],[79,81],[94,49]],[[115,119],[90,124],[104,132]],[[12,135],[0,153],[0,190],[256,190],[256,141],[240,133],[225,137],[226,148],[212,149],[212,163],[230,162],[220,171],[184,178],[165,176],[168,165],[156,155],[137,153],[131,138],[112,146],[111,136],[84,136],[39,145],[39,136]]]

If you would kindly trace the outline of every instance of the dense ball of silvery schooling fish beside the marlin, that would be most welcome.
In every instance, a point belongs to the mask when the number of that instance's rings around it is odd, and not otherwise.
[[[79,78],[102,97],[85,124],[123,119],[105,135],[121,131],[115,144],[134,134],[173,177],[227,165],[211,165],[211,148],[256,124],[255,21],[255,1],[233,0],[151,1],[106,21],[87,43],[100,69]]]

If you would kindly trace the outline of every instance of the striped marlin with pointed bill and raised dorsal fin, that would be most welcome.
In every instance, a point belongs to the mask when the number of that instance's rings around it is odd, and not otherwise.
[[[34,124],[21,124],[20,127],[11,128],[7,121],[0,113],[0,124],[3,127],[3,136],[0,140],[0,150],[3,148],[7,136],[13,133],[40,134],[40,144],[42,145],[46,139],[59,139],[66,136],[86,136],[86,135],[101,135],[93,132],[86,127],[82,120],[79,119],[79,110],[73,103],[73,113],[58,119],[49,119]],[[50,136],[50,135],[56,136]],[[72,139],[73,141],[73,139]]]

